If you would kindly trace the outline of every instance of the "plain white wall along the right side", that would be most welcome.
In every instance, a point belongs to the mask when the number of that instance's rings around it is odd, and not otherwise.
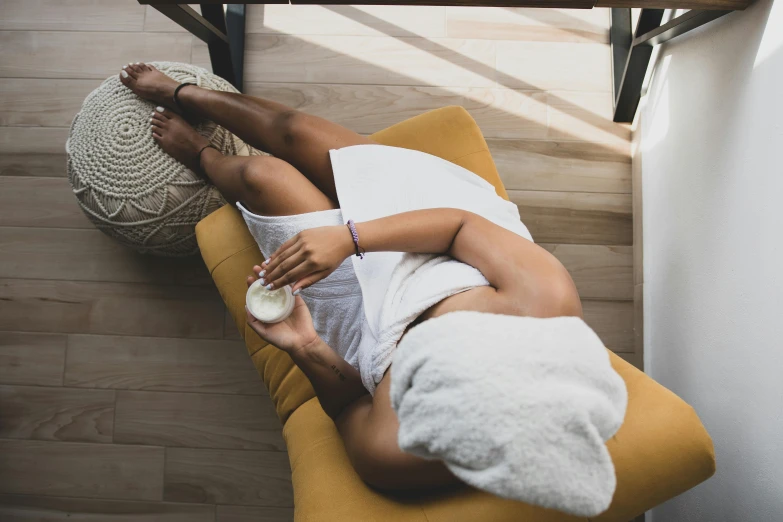
[[[782,99],[759,0],[666,44],[641,109],[646,368],[718,461],[655,522],[783,521]]]

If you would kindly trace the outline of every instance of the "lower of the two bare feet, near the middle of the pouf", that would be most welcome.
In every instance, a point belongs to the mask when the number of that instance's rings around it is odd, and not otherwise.
[[[209,145],[209,140],[196,132],[182,116],[160,106],[153,111],[150,124],[152,138],[160,148],[193,172],[201,172],[199,152]]]

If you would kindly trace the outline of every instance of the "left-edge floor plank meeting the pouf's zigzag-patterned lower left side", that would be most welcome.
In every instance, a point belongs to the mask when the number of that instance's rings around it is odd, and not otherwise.
[[[0,226],[93,228],[65,178],[0,177]]]

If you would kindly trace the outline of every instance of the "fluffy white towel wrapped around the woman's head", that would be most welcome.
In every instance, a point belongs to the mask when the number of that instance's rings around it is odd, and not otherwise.
[[[393,362],[403,451],[501,497],[583,517],[609,507],[604,442],[628,395],[584,321],[452,312],[412,328]]]

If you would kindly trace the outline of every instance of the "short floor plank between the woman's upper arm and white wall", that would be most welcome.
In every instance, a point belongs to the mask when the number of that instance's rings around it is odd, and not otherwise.
[[[582,299],[633,299],[631,247],[548,243],[540,246],[568,269]]]

